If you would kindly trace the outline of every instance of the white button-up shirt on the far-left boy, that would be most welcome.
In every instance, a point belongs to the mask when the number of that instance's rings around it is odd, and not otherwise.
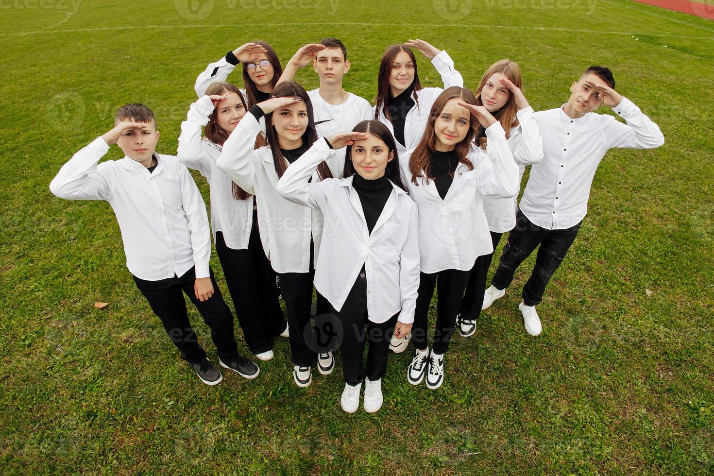
[[[97,165],[109,146],[99,137],[62,166],[50,191],[67,200],[106,200],[124,241],[126,267],[137,278],[181,276],[196,266],[208,278],[211,231],[206,205],[186,166],[154,154],[154,173],[132,158]]]

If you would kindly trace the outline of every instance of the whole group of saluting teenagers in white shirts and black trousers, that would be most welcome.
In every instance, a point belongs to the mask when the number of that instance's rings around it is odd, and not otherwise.
[[[413,49],[431,60],[443,88],[421,86]],[[238,66],[243,88],[226,81]],[[305,66],[319,77],[313,91],[293,81]],[[219,365],[248,379],[260,373],[238,353],[233,314],[209,266],[211,230],[251,353],[271,360],[274,340],[289,338],[293,380],[307,387],[313,367],[322,375],[335,368],[333,350],[308,345],[311,317],[336,316],[341,407],[358,410],[364,383],[364,410],[376,412],[390,350],[411,341],[408,382],[441,387],[453,333],[475,333],[481,310],[503,297],[535,248],[518,309],[528,334],[539,335],[535,305],[578,234],[600,160],[610,148],[664,143],[601,66],[585,69],[563,106],[539,112],[508,59],[488,67],[472,92],[446,51],[418,39],[390,46],[374,106],[343,88],[350,67],[338,39],[303,46],[284,69],[270,44],[244,44],[198,76],[176,156],[156,153],[154,114],[129,104],[50,184],[60,198],[109,201],[137,288],[207,385],[223,375],[198,344],[183,293],[210,328]],[[601,105],[625,123],[594,113]],[[114,143],[126,156],[99,163]],[[208,181],[210,226],[187,168]]]

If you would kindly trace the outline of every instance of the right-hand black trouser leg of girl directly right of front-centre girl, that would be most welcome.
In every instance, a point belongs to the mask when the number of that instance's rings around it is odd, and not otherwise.
[[[436,284],[436,328],[434,329],[434,353],[448,350],[451,335],[456,328],[456,314],[461,306],[463,290],[468,283],[468,271],[443,270],[438,273]]]

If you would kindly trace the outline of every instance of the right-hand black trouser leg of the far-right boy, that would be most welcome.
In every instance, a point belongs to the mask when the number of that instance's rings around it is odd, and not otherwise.
[[[583,222],[581,221],[580,223]],[[535,257],[533,272],[526,285],[523,286],[524,304],[537,305],[543,300],[545,286],[548,285],[550,278],[553,277],[560,263],[563,263],[570,245],[573,244],[575,236],[578,236],[580,223],[565,230],[552,230],[540,243],[538,255]]]

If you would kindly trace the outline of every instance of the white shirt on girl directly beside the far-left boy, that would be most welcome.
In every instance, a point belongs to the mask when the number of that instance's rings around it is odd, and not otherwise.
[[[233,197],[233,182],[216,162],[223,148],[209,141],[201,140],[203,126],[208,123],[208,116],[213,112],[213,101],[203,96],[188,109],[186,121],[181,123],[181,136],[178,137],[178,161],[193,168],[206,177],[211,185],[211,228],[213,239],[216,233],[223,233],[223,240],[228,248],[245,250],[251,237],[253,226],[253,197],[236,200]]]

